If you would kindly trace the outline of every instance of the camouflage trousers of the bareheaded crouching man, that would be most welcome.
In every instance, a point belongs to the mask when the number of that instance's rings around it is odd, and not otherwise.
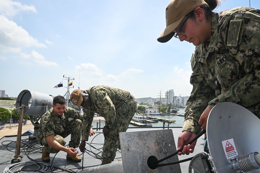
[[[66,129],[61,134],[54,135],[54,140],[59,142],[62,146],[65,146],[66,141],[64,140],[64,138],[66,138],[71,134],[69,147],[72,148],[79,147],[80,139],[81,139],[81,126],[82,126],[82,121],[80,119],[70,120],[69,126],[66,126]],[[49,153],[58,153],[60,151],[50,147],[48,144],[44,146],[46,148],[46,151]]]

